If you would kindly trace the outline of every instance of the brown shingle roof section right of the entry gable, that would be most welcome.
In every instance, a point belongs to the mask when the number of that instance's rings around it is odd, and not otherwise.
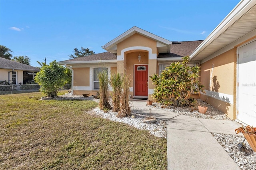
[[[171,53],[160,53],[158,58],[165,57],[184,57],[190,55],[204,40],[188,41],[188,42],[173,42]]]

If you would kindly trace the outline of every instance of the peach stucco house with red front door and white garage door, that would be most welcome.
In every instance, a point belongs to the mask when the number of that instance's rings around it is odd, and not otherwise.
[[[204,41],[170,42],[133,27],[102,48],[108,52],[58,62],[72,70],[72,94],[95,94],[96,73],[104,68],[109,75],[126,71],[130,95],[152,99],[149,76],[190,55],[190,65],[201,66],[201,98],[231,119],[256,126],[256,0],[239,2]]]

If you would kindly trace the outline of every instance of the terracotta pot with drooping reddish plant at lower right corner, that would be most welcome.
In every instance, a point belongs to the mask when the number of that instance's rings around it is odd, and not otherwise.
[[[256,128],[251,127],[250,125],[247,127],[242,126],[237,128],[235,132],[236,134],[241,132],[251,146],[252,150],[256,152]]]

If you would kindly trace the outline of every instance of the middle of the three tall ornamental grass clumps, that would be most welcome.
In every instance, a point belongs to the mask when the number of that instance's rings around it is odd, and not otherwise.
[[[122,95],[122,75],[120,73],[111,74],[109,83],[112,87],[112,105],[113,111],[118,112],[120,110],[120,97]]]

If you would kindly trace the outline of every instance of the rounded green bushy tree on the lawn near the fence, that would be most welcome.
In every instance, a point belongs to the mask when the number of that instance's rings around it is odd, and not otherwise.
[[[65,68],[55,61],[50,65],[44,65],[34,78],[35,82],[41,86],[40,91],[45,93],[47,97],[55,97],[67,79],[64,72]]]

